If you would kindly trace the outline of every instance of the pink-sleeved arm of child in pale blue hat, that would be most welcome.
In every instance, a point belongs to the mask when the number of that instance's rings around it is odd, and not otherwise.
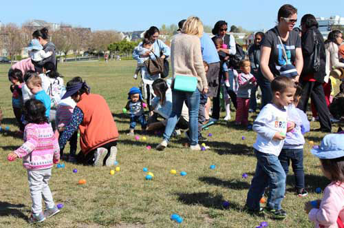
[[[330,227],[336,224],[341,209],[343,209],[343,196],[340,192],[331,191],[326,187],[319,209],[310,210],[308,218],[313,222],[319,222],[325,227]]]

